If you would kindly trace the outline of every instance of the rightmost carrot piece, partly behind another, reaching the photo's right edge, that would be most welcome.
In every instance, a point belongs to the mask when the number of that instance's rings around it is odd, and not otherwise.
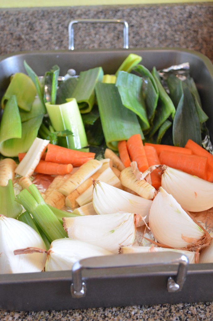
[[[199,144],[195,143],[191,139],[188,139],[185,148],[189,148],[193,154],[198,156],[207,157],[208,159],[208,174],[207,174],[207,180],[209,182],[213,182],[213,155],[210,154],[206,149],[204,149]]]

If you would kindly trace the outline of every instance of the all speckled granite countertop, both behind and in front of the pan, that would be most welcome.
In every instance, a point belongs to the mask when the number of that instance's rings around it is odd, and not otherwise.
[[[213,3],[0,9],[0,55],[28,50],[68,49],[68,24],[75,19],[125,19],[129,48],[179,47],[213,62]],[[75,49],[121,48],[121,25],[76,25]],[[1,321],[213,320],[213,302],[82,310],[13,312]]]

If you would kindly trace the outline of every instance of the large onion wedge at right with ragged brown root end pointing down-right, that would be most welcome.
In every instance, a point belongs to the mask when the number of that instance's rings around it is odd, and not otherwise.
[[[161,244],[175,248],[201,248],[210,241],[209,234],[182,209],[162,187],[153,199],[149,227]]]

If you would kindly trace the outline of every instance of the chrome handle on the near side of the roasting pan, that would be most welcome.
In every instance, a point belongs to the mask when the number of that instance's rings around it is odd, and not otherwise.
[[[82,281],[82,270],[144,267],[147,265],[178,264],[175,278],[167,280],[167,291],[181,291],[186,279],[189,260],[187,256],[178,252],[156,252],[140,254],[117,254],[109,256],[97,256],[82,259],[72,267],[71,295],[73,298],[81,298],[86,295],[86,284]]]

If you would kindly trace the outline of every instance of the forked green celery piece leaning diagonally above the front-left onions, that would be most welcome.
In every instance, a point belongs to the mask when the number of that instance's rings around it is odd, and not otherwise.
[[[55,239],[67,237],[58,218],[44,202],[41,194],[34,184],[29,186],[29,191],[23,189],[17,196],[17,201],[29,212],[50,242]]]

